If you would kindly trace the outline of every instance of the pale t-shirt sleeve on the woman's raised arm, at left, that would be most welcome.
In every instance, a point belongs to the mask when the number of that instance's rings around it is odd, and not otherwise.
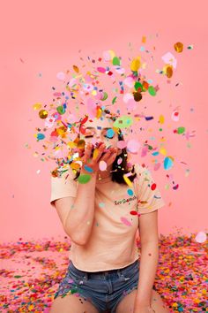
[[[51,194],[50,204],[55,208],[55,200],[61,199],[67,196],[76,197],[77,195],[77,182],[74,180],[75,175],[73,174],[71,167],[67,166],[62,169],[63,172],[61,177],[53,177],[51,175]]]

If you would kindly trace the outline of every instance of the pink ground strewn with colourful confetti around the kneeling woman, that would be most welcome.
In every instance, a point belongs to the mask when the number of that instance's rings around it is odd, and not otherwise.
[[[195,238],[160,235],[155,286],[170,312],[208,311],[207,243]],[[69,263],[70,240],[20,238],[0,247],[0,312],[48,312]]]

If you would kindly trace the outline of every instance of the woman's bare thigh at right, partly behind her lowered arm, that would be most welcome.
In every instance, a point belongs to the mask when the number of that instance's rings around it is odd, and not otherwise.
[[[127,294],[121,302],[119,302],[116,313],[132,313],[134,310],[134,302],[136,299],[137,290],[133,290]],[[151,307],[155,313],[169,313],[166,304],[162,301],[159,293],[152,289]]]

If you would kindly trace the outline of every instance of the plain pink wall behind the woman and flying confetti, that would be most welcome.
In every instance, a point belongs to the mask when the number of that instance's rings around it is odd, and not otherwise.
[[[1,240],[42,238],[63,234],[62,225],[49,204],[49,170],[54,164],[33,157],[39,145],[33,135],[40,126],[33,104],[48,103],[56,73],[76,64],[78,50],[115,50],[122,56],[128,42],[140,47],[146,35],[159,34],[154,44],[162,56],[175,42],[194,45],[178,59],[177,77],[182,81],[176,95],[162,98],[167,107],[181,106],[182,124],[196,137],[176,141],[172,155],[189,164],[178,166],[175,177],[180,188],[165,189],[165,173],[153,172],[167,208],[160,210],[160,233],[205,231],[207,228],[207,37],[206,1],[35,1],[4,2],[1,23]],[[173,50],[172,50],[173,51]],[[162,64],[162,63],[161,63]],[[161,65],[160,64],[160,65]],[[165,81],[165,80],[164,80]],[[191,109],[192,108],[192,109]],[[192,111],[191,111],[192,110]],[[25,144],[32,145],[26,149]],[[178,144],[178,146],[177,146]],[[39,174],[37,171],[41,170]],[[168,203],[172,202],[171,206]]]

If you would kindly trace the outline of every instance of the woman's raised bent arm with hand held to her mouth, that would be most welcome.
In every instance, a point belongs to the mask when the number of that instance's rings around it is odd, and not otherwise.
[[[56,200],[55,206],[59,218],[62,220],[63,229],[71,240],[79,245],[85,245],[90,237],[93,218],[94,218],[94,197],[97,172],[99,171],[99,162],[104,160],[111,162],[115,158],[115,149],[108,149],[103,153],[105,145],[101,144],[97,149],[97,153],[92,156],[92,145],[89,144],[85,148],[85,154],[82,158],[83,166],[80,175],[85,174],[85,164],[93,169],[91,179],[86,184],[78,182],[77,196],[64,197]]]

